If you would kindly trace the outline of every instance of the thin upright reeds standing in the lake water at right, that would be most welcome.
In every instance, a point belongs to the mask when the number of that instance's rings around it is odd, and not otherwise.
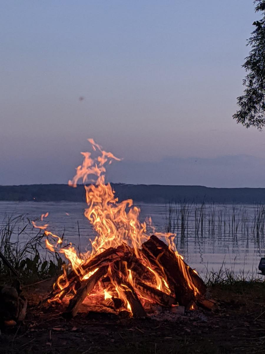
[[[182,238],[188,236],[190,228],[197,237],[205,235],[244,238],[254,237],[264,240],[265,204],[244,206],[240,204],[220,205],[193,202],[169,202],[165,204],[165,230],[177,233]]]

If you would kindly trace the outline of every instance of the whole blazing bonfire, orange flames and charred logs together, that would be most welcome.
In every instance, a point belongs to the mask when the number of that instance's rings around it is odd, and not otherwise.
[[[176,235],[155,232],[151,218],[141,223],[140,209],[131,199],[118,201],[110,183],[105,183],[105,166],[120,159],[93,139],[88,141],[93,151],[81,153],[83,164],[69,185],[82,182],[86,191],[84,214],[97,234],[90,240],[90,251],[77,254],[72,244],[63,247],[48,224],[33,222],[44,230],[47,248],[63,253],[69,262],[47,301],[67,301],[68,318],[77,314],[85,299],[90,308],[127,311],[134,317],[146,316],[153,304],[195,309],[204,301],[206,287],[177,252]],[[41,221],[47,216],[43,214]]]

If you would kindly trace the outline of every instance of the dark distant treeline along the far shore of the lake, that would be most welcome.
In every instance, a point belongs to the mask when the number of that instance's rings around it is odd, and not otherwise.
[[[208,188],[195,185],[112,184],[119,200],[166,203],[264,203],[265,188]],[[0,186],[0,200],[6,201],[84,201],[82,185],[71,188],[66,184],[32,184]]]

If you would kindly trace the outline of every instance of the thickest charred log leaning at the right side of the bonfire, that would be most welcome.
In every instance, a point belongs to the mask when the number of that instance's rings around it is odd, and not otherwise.
[[[180,305],[187,307],[195,301],[197,294],[205,292],[206,287],[200,277],[156,236],[152,235],[142,244],[142,251],[160,269]]]

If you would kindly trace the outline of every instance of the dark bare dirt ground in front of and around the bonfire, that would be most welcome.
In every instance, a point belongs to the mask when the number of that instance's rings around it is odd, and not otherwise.
[[[49,286],[24,288],[26,319],[1,331],[0,353],[265,353],[265,282],[211,288],[214,312],[141,320],[89,312],[66,321],[61,306],[36,307]]]

